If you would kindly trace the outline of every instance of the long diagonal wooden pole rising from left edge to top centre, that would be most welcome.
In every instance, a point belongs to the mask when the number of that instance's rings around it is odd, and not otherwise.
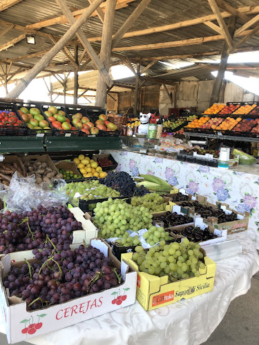
[[[95,0],[93,4],[91,4],[88,8],[86,8],[86,10],[84,10],[83,14],[81,14],[81,17],[73,24],[73,26],[71,26],[70,29],[68,29],[66,34],[64,34],[64,36],[62,36],[61,39],[57,41],[55,46],[53,46],[50,51],[35,64],[35,66],[27,73],[27,75],[23,77],[21,81],[19,81],[17,86],[8,93],[9,98],[18,97],[21,92],[26,89],[30,81],[32,81],[32,79],[34,79],[39,74],[39,72],[41,72],[48,66],[52,58],[55,57],[55,55],[57,55],[61,48],[63,48],[66,43],[68,43],[68,41],[74,37],[77,30],[81,28],[84,23],[86,23],[86,20],[88,19],[88,17],[90,17],[90,14],[92,14],[93,11],[96,10],[96,8],[102,2],[103,0]]]

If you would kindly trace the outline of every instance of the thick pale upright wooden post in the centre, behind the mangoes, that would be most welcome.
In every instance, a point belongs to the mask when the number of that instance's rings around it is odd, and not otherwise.
[[[106,71],[110,68],[111,58],[111,39],[113,35],[113,19],[115,14],[116,0],[106,1],[106,10],[104,14],[104,26],[102,28],[102,46],[99,55],[101,63]],[[95,97],[95,106],[104,108],[107,101],[106,83],[102,78],[102,74],[98,71],[97,91]]]

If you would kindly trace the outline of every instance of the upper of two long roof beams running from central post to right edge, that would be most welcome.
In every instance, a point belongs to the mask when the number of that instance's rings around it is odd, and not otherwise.
[[[254,6],[252,8],[250,6],[247,6],[247,7],[238,8],[238,10],[239,12],[245,13],[245,14],[256,14],[259,12],[259,6]],[[221,16],[222,18],[229,18],[231,17],[231,14],[229,12],[221,12]],[[144,36],[146,34],[154,34],[157,32],[165,32],[165,31],[175,30],[179,28],[186,28],[188,26],[204,23],[205,21],[215,21],[216,19],[217,17],[214,14],[209,14],[208,16],[199,17],[195,19],[189,19],[186,21],[180,21],[178,23],[168,24],[165,26],[157,26],[155,28],[148,28],[144,30],[126,32],[126,34],[124,34],[122,38],[128,38],[128,37],[132,38],[132,37]],[[89,39],[89,42],[95,42],[95,41],[102,41],[102,37],[101,36],[92,37]]]

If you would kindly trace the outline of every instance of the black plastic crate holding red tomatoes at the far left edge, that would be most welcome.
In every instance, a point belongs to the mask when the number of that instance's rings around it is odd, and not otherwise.
[[[19,115],[19,112],[17,112],[17,106],[15,104],[8,104],[8,103],[0,103],[0,113],[1,112],[14,112],[15,116],[20,120],[21,116]],[[28,132],[28,128],[26,124],[23,122],[21,126],[0,126],[0,136],[26,136]]]

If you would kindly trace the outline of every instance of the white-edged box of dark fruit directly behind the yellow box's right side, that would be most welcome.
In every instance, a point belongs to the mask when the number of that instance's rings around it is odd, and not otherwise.
[[[214,235],[218,236],[213,239],[208,239],[207,241],[204,241],[204,242],[198,242],[201,247],[209,246],[209,244],[216,244],[216,243],[227,241],[227,230],[225,229],[219,230],[219,229],[214,228],[214,226],[205,224],[204,219],[202,219],[201,217],[195,217],[194,224],[192,223],[192,224],[186,224],[186,225],[180,225],[180,226],[173,226],[171,228],[166,228],[165,230],[169,231],[170,235],[175,237],[176,239],[181,238],[181,242],[182,242],[182,240],[185,237],[183,235],[174,234],[173,231],[180,233],[187,226],[199,226],[202,230],[204,230],[205,228],[209,228],[210,233],[213,233]]]

